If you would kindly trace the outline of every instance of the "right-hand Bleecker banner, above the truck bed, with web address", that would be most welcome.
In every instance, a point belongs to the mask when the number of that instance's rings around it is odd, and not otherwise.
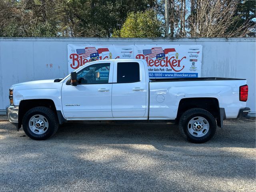
[[[134,52],[147,61],[150,78],[201,76],[202,45],[135,45]]]

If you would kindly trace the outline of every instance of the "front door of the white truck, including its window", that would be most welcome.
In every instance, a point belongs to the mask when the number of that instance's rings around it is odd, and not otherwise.
[[[113,62],[87,64],[77,71],[77,86],[62,86],[62,108],[67,119],[113,118],[111,94]]]

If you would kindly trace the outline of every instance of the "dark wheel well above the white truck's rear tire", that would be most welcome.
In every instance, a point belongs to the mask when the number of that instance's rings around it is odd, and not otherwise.
[[[216,98],[184,98],[180,100],[178,113],[176,120],[180,119],[180,116],[189,109],[202,108],[210,112],[214,118],[219,118],[220,108],[219,102]]]

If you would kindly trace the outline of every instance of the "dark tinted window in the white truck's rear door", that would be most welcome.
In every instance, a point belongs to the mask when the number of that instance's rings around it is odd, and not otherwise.
[[[136,62],[117,63],[117,82],[133,83],[140,81],[140,65]]]

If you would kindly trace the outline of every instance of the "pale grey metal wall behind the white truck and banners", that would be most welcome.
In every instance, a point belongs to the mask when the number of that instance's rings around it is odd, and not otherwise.
[[[68,75],[67,44],[202,44],[202,77],[246,78],[256,111],[254,38],[0,38],[0,110],[12,84]]]

